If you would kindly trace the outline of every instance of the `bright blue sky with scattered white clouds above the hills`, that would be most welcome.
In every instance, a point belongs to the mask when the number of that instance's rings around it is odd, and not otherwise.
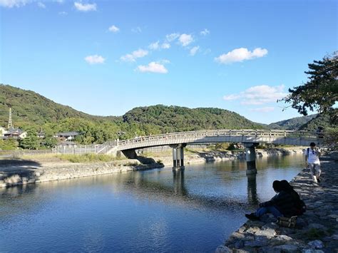
[[[272,123],[337,50],[337,1],[0,0],[0,82],[93,115],[217,107]]]

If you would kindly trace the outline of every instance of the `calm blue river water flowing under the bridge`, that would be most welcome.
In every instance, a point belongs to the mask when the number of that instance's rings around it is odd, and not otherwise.
[[[214,252],[302,155],[0,188],[0,252]]]

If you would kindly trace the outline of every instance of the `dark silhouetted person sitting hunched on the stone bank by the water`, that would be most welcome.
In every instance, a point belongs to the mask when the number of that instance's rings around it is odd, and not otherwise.
[[[282,183],[275,180],[272,188],[277,194],[271,200],[260,203],[260,208],[256,212],[246,214],[245,217],[250,220],[260,220],[260,217],[266,213],[271,213],[276,218],[295,215],[295,200],[289,192],[283,190]]]

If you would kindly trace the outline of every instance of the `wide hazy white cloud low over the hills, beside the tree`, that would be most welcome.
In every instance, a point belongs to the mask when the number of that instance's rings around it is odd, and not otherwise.
[[[223,96],[224,100],[240,100],[242,105],[263,105],[265,103],[276,102],[277,99],[284,98],[284,85],[280,86],[253,86],[237,94]]]

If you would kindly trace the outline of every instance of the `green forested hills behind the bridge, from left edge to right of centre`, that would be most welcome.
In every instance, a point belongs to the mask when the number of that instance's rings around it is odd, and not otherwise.
[[[78,143],[103,143],[116,138],[153,135],[185,130],[263,128],[237,113],[218,108],[184,108],[153,105],[134,108],[122,117],[102,117],[73,108],[20,88],[0,84],[0,125],[6,127],[12,108],[14,127],[53,133],[78,131]]]

